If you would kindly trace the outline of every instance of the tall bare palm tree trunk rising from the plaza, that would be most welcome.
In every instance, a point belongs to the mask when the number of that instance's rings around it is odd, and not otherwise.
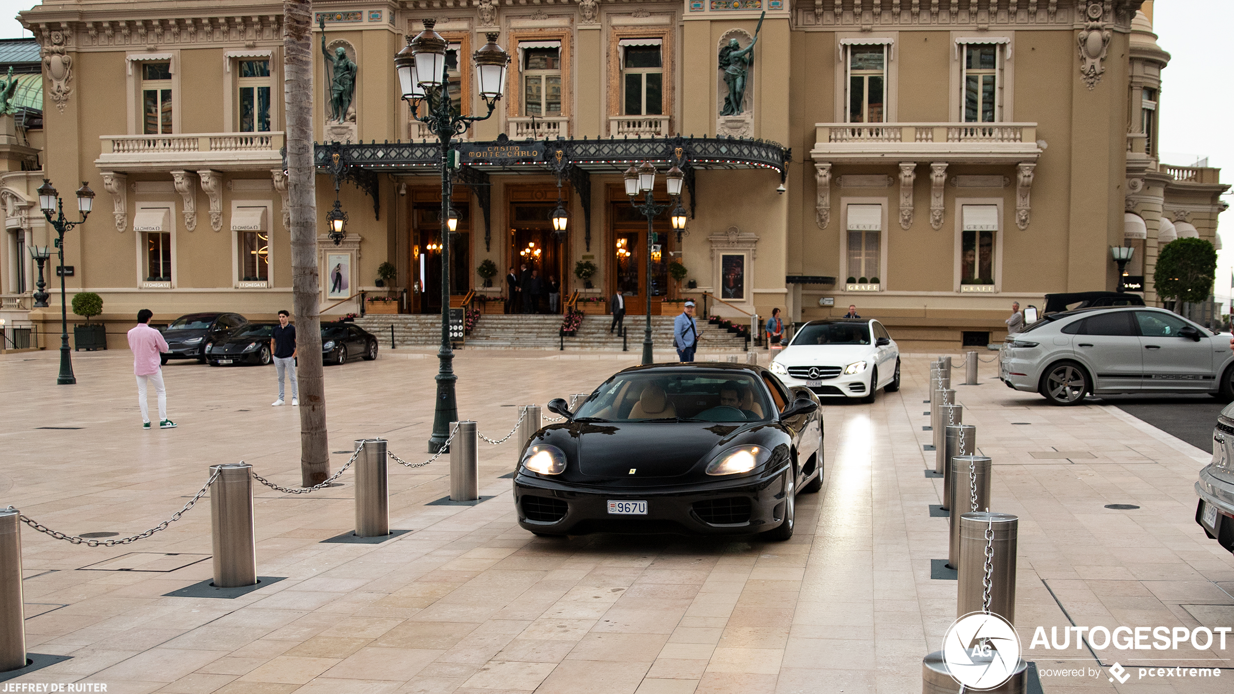
[[[283,92],[288,126],[288,201],[291,205],[291,287],[300,385],[301,486],[329,477],[326,387],[322,380],[317,276],[317,189],[312,161],[312,0],[283,2]]]

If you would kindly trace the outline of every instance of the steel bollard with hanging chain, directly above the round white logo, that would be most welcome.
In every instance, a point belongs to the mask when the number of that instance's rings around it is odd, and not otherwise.
[[[990,611],[1016,624],[1016,535],[1019,516],[1009,513],[960,515],[960,586],[955,616],[981,611],[986,555],[986,530],[993,528],[990,572]],[[976,561],[969,561],[975,558]]]

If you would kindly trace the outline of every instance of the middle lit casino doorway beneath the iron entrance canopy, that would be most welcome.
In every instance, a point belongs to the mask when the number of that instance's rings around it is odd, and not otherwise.
[[[553,211],[557,210],[557,187],[510,187],[510,258],[515,271],[522,275],[521,265],[527,264],[526,286],[521,292],[520,313],[560,313],[563,279],[568,277],[569,249],[565,242],[553,235]],[[570,208],[569,190],[563,187],[561,202]],[[571,219],[573,222],[573,219]],[[531,272],[536,271],[536,279]],[[555,282],[555,306],[549,295]]]

